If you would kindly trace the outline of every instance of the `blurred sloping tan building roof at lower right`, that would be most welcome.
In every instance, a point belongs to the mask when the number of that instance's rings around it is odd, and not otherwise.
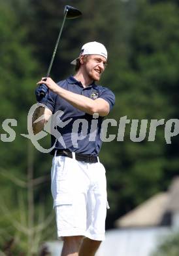
[[[171,223],[171,216],[179,216],[179,177],[175,177],[167,192],[161,192],[120,217],[115,224],[120,228],[159,226]]]

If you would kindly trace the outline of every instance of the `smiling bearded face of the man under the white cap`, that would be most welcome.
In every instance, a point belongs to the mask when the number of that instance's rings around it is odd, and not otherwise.
[[[91,80],[99,81],[105,70],[106,58],[101,55],[86,55],[83,57],[84,70]]]

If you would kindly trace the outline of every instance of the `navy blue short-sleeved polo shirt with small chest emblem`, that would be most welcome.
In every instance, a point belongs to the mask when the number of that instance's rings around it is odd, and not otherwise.
[[[71,91],[73,93],[77,93],[78,95],[84,95],[88,98],[95,99],[95,98],[103,98],[106,100],[110,106],[110,110],[114,106],[115,96],[110,89],[106,87],[102,87],[101,85],[95,85],[95,83],[91,83],[88,87],[84,88],[80,81],[74,79],[73,76],[68,77],[63,81],[59,81],[57,83],[63,89],[67,91]],[[57,123],[62,121],[63,125],[57,125],[56,129],[61,134],[63,138],[63,142],[61,140],[56,140],[56,137],[52,135],[52,146],[56,142],[56,149],[68,149],[71,152],[76,152],[80,154],[91,154],[94,156],[98,156],[99,151],[101,149],[102,140],[100,139],[101,133],[101,124],[103,122],[103,118],[99,116],[95,119],[92,115],[86,114],[77,108],[74,108],[67,100],[64,100],[59,95],[56,95],[52,91],[49,92],[48,100],[46,102],[46,107],[49,108],[53,114],[55,114],[58,110],[61,110],[61,114],[57,115]],[[68,122],[68,120],[71,121]],[[84,120],[84,125],[80,123],[79,119]],[[97,128],[96,126],[91,125],[93,120],[97,120]],[[65,122],[67,124],[65,125]],[[92,122],[92,123],[91,123]],[[62,123],[62,124],[63,124]],[[76,130],[76,135],[74,132],[74,123],[78,124],[78,131]],[[95,127],[95,128],[92,128]],[[94,130],[95,131],[92,131]],[[91,133],[96,134],[93,139],[91,139]],[[83,136],[84,135],[84,136]],[[76,137],[80,137],[79,140],[76,141]],[[92,140],[92,141],[91,141]],[[74,143],[77,142],[77,143]],[[53,152],[54,152],[53,150]]]

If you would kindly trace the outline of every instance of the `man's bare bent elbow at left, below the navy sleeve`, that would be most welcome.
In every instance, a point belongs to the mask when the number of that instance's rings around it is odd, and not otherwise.
[[[34,123],[35,120],[37,120],[39,117],[42,117],[41,121],[38,121],[37,123]],[[33,113],[33,133],[36,135],[40,131],[44,129],[44,125],[48,121],[48,119],[52,116],[52,111],[49,110],[48,108],[44,108],[42,106],[39,106],[39,108],[36,108],[35,112]]]

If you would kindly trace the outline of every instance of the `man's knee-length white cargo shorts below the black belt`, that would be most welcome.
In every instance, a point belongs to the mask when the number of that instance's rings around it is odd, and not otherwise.
[[[107,195],[105,167],[54,156],[51,170],[57,236],[105,240]]]

